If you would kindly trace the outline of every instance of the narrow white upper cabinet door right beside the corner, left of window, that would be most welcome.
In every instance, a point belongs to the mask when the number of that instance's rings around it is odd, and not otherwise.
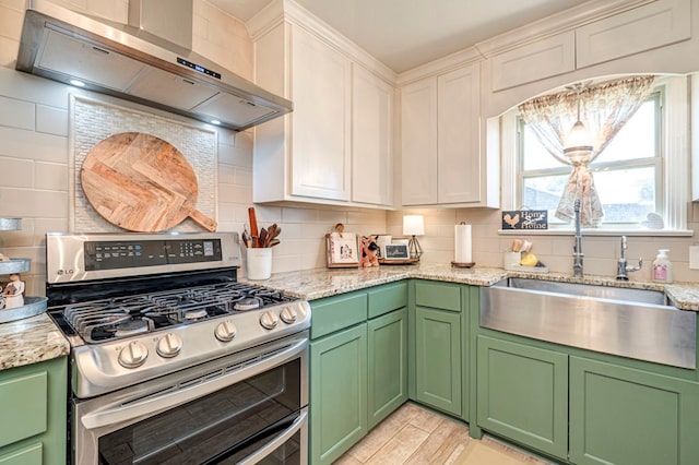
[[[402,203],[437,203],[437,78],[401,91]]]

